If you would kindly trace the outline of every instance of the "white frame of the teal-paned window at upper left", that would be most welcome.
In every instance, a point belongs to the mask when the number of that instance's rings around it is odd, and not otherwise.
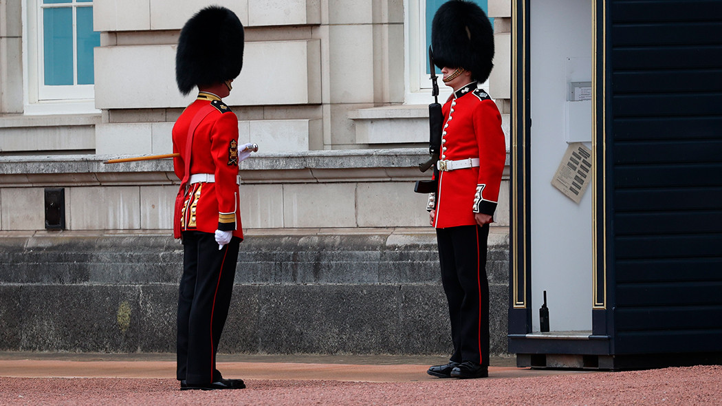
[[[22,0],[22,77],[25,114],[100,113],[100,110],[95,108],[95,85],[45,85],[42,2],[43,0]],[[73,0],[72,3],[46,4],[45,7],[92,7],[92,5],[92,1],[76,3]],[[75,13],[73,19],[75,20]],[[75,21],[73,21],[73,30],[75,31]],[[76,51],[75,45],[73,48]]]

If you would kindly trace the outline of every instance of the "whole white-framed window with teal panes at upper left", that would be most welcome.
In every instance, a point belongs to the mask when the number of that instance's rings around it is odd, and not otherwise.
[[[92,0],[25,0],[26,113],[94,111]]]

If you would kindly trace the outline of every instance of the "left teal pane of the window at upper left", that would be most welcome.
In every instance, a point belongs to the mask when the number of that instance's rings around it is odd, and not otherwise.
[[[45,85],[73,85],[73,9],[43,10]]]

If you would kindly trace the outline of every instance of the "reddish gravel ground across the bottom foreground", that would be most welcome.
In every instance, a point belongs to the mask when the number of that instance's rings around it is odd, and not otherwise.
[[[0,405],[722,405],[722,366],[418,382],[246,381],[183,391],[173,379],[5,378]]]

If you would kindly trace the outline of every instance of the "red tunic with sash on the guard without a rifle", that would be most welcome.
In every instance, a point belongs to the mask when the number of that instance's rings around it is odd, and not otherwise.
[[[196,127],[191,174],[213,174],[215,181],[189,185],[183,209],[175,213],[173,221],[181,223],[181,231],[233,230],[233,236],[243,239],[238,189],[238,118],[216,95],[201,92],[175,121],[173,152],[180,152],[181,156],[173,158],[173,168],[175,175],[183,179],[188,159],[188,127],[196,113],[209,103],[216,109]]]

